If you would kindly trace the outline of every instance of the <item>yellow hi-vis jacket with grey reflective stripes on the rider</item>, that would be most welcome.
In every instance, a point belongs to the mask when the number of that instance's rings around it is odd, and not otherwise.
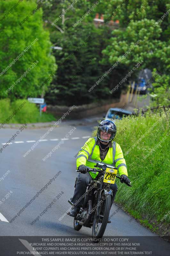
[[[120,145],[117,142],[112,141],[112,148],[109,148],[106,157],[102,161],[100,159],[99,145],[96,145],[97,140],[97,137],[91,137],[89,138],[89,140],[86,141],[86,143],[78,153],[76,162],[77,168],[81,164],[84,164],[90,168],[94,168],[97,163],[103,163],[111,165],[113,167],[116,166],[120,175],[125,174],[128,176],[126,161],[123,158],[123,153]],[[98,174],[98,172],[89,173],[93,179],[95,179]]]

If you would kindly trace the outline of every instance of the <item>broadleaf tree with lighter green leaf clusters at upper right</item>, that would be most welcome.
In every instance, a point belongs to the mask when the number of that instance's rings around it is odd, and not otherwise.
[[[143,63],[138,70],[150,68],[153,71],[153,76],[157,70],[162,70],[153,83],[157,99],[161,99],[162,94],[159,92],[168,88],[170,81],[169,65],[162,68],[169,60],[170,55],[169,1],[111,0],[109,3],[108,1],[104,3],[104,19],[106,20],[109,16],[112,16],[113,20],[119,19],[120,27],[112,32],[112,38],[106,49],[103,50],[102,63],[109,60],[113,65],[135,42],[140,40],[134,50],[130,51],[119,64],[122,71],[124,68],[122,77],[140,60]],[[164,13],[166,15],[162,18]],[[154,102],[158,104],[161,100],[154,99]]]

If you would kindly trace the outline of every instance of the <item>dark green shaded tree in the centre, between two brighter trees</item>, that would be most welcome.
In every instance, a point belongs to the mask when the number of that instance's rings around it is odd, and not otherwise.
[[[68,28],[62,34],[58,44],[63,50],[54,52],[59,69],[46,94],[47,102],[81,105],[110,97],[109,75],[91,92],[88,91],[110,68],[109,63],[99,63],[107,37],[107,29],[97,29],[93,24],[80,24],[77,28]]]

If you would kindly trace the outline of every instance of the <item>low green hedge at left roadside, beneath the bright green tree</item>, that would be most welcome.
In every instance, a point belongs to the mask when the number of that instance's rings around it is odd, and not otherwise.
[[[50,122],[56,120],[54,116],[49,113],[43,113],[40,116],[39,107],[28,100],[15,100],[10,103],[9,99],[0,100],[0,123],[6,124],[24,124],[24,123],[38,123]],[[15,113],[15,115],[12,115]]]

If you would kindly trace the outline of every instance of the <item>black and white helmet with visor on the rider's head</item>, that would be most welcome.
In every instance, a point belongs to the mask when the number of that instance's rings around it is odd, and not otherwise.
[[[110,139],[102,140],[101,139],[101,131],[111,133]],[[114,137],[116,136],[116,131],[117,131],[116,124],[114,124],[110,120],[104,120],[104,121],[100,122],[100,124],[97,127],[97,138],[101,141],[109,142],[109,141],[113,140]]]

